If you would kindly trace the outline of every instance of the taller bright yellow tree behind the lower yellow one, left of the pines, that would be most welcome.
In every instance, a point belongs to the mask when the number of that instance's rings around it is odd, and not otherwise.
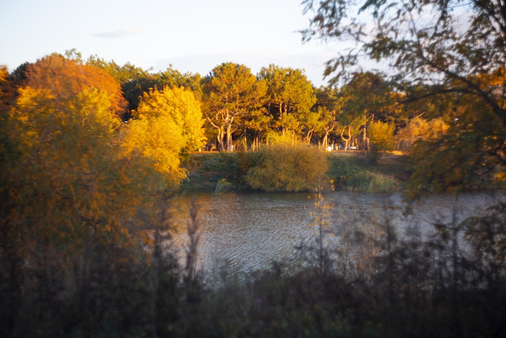
[[[137,108],[137,115],[142,118],[171,117],[182,132],[186,145],[182,151],[191,153],[204,143],[202,111],[200,102],[193,92],[183,87],[164,87],[163,90],[150,90],[144,93]]]

